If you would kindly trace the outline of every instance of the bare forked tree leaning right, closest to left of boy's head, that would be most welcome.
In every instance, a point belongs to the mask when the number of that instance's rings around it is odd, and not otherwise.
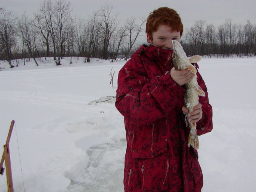
[[[125,53],[125,60],[127,61],[128,55],[130,54],[131,49],[133,48],[134,43],[136,42],[136,39],[138,38],[139,34],[142,32],[143,25],[146,22],[146,19],[141,19],[140,24],[136,24],[136,18],[131,17],[130,19],[126,20],[127,29],[128,29],[128,42],[127,42],[127,48],[128,50]]]

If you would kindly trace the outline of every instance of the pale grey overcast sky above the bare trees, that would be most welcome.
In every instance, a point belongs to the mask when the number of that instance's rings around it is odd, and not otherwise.
[[[54,0],[53,0],[54,1]],[[0,7],[16,14],[25,10],[29,14],[37,12],[43,0],[0,0]],[[207,24],[219,26],[225,19],[234,23],[246,24],[250,20],[256,24],[255,0],[69,0],[72,14],[87,18],[101,8],[101,4],[113,5],[113,13],[119,13],[118,19],[135,16],[147,18],[154,9],[168,6],[181,16],[184,29],[191,27],[196,20],[205,20]]]

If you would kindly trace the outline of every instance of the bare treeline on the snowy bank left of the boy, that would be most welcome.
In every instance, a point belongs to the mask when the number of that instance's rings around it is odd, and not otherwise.
[[[67,56],[84,57],[84,62],[117,59],[118,54],[127,59],[146,21],[131,17],[121,25],[112,10],[101,5],[84,19],[71,16],[67,0],[45,0],[32,18],[0,8],[0,60],[14,67],[11,60],[19,58],[32,58],[37,64],[38,57],[54,57],[56,65]]]

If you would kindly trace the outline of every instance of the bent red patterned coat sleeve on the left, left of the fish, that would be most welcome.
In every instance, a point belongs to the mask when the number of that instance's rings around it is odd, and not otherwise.
[[[186,90],[165,75],[148,79],[139,56],[132,57],[118,74],[118,111],[134,125],[147,125],[170,114],[184,104]]]

